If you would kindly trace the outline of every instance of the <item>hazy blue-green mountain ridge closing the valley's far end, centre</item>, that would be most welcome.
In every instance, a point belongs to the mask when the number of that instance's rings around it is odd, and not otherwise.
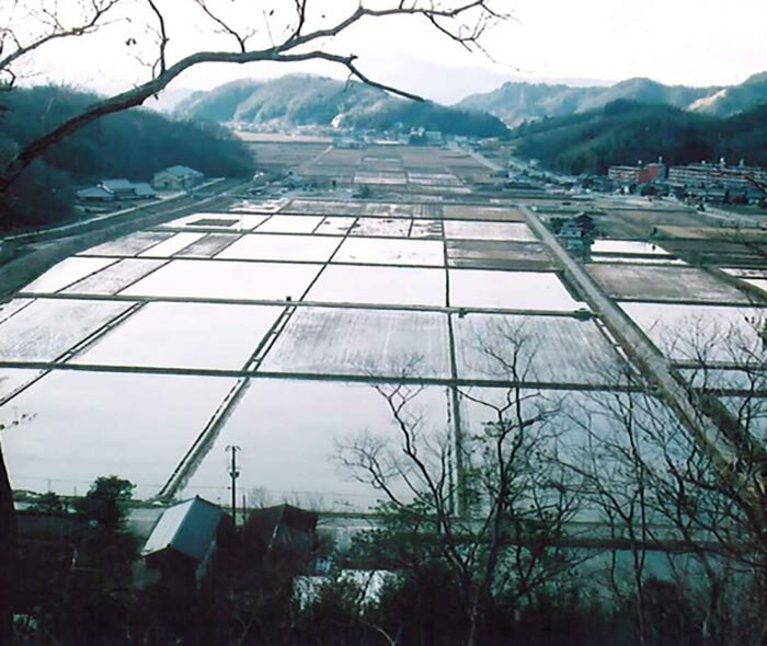
[[[476,137],[507,135],[501,119],[486,113],[409,101],[363,83],[313,76],[233,81],[195,92],[179,103],[174,114],[260,127],[320,125],[381,130],[399,126]]]

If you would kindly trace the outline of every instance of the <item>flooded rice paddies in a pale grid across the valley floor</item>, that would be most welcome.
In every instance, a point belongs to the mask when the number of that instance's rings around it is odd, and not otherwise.
[[[597,243],[585,267],[680,369],[695,366],[669,331],[689,338],[696,321],[760,344],[756,269],[632,241]],[[517,207],[238,203],[89,249],[0,305],[0,420],[25,417],[5,459],[18,489],[81,493],[114,473],[141,498],[227,501],[233,445],[241,491],[363,510],[379,496],[336,455],[396,432],[371,384],[407,382],[424,432],[465,437],[489,420],[477,400],[507,392],[495,350],[514,333],[534,339],[524,388],[585,408],[631,370],[592,314]]]

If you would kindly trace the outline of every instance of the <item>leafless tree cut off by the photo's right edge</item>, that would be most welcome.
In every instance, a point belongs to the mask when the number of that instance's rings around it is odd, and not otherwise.
[[[749,581],[756,608],[767,603],[767,390],[765,389],[765,319],[744,312],[742,320],[695,334],[687,342],[685,377],[701,414],[713,419],[734,447],[731,473],[713,469],[692,450],[684,462],[666,459],[669,486],[662,498],[682,509],[689,524],[713,539],[723,557]],[[679,511],[676,511],[679,514]],[[705,560],[706,555],[701,555]],[[721,560],[718,558],[717,563]],[[721,573],[705,563],[712,581],[710,632],[720,631],[716,611],[721,599]],[[767,638],[767,621],[749,618],[755,643]],[[708,627],[708,626],[707,626]],[[721,631],[720,631],[721,632]],[[733,639],[735,641],[735,639]]]

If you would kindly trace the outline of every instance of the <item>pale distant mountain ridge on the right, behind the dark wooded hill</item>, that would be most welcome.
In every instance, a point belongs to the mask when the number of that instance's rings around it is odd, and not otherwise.
[[[456,106],[489,112],[507,125],[517,126],[526,120],[598,109],[618,100],[728,117],[767,103],[767,72],[754,74],[740,85],[710,88],[664,85],[644,78],[628,79],[606,88],[512,81],[492,92],[467,96]]]

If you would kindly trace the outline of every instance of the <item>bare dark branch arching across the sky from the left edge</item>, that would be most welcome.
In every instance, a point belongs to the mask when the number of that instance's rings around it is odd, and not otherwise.
[[[125,47],[126,56],[131,56],[129,51],[140,45],[139,38],[144,42],[145,36],[151,34],[153,53],[142,48],[139,55],[148,69],[144,82],[100,99],[13,154],[0,169],[0,194],[56,142],[102,116],[141,105],[194,66],[321,60],[345,68],[350,78],[421,101],[415,94],[366,76],[358,66],[358,57],[343,50],[336,37],[358,24],[369,26],[376,21],[401,16],[424,21],[463,48],[483,50],[480,39],[486,28],[506,18],[492,5],[492,0],[360,0],[351,5],[342,4],[341,9],[334,4],[319,0],[264,5],[241,0],[173,0],[172,3],[169,0],[80,0],[70,3],[65,12],[58,3],[48,0],[9,3],[4,11],[9,20],[14,20],[0,28],[0,78],[4,90],[15,85],[15,69],[32,55],[56,42],[89,36],[110,21],[127,22],[137,30],[136,35],[128,35],[124,42],[114,42],[112,46]],[[174,34],[193,16],[202,21],[204,36],[197,41],[202,47],[175,55]],[[224,42],[228,45],[215,47]],[[208,43],[215,43],[210,50],[205,48]]]

